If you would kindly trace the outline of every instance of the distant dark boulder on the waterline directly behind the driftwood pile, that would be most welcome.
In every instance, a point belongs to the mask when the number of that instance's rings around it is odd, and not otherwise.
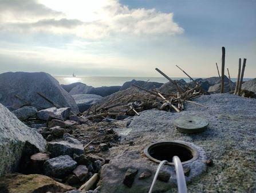
[[[125,90],[128,89],[132,86],[132,84],[135,84],[137,86],[143,86],[143,88],[145,89],[152,89],[152,88],[159,88],[160,86],[163,85],[163,83],[159,83],[159,82],[146,82],[143,80],[132,80],[132,81],[128,81],[128,82],[124,82],[123,86],[121,86],[120,90]]]

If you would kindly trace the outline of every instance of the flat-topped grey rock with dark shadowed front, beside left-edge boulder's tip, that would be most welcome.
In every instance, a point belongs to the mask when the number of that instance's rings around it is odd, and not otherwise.
[[[76,153],[76,155],[81,155],[84,152],[82,144],[73,144],[68,141],[49,142],[47,144],[47,149],[50,152],[51,157],[60,155],[69,155],[70,157],[73,157],[74,153]]]

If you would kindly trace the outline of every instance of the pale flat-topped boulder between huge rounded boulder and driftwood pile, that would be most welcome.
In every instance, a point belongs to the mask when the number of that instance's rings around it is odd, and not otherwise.
[[[96,94],[74,94],[72,97],[80,112],[86,111],[91,105],[103,98]]]

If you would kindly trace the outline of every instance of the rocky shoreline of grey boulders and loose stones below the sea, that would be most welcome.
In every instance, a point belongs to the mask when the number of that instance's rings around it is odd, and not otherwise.
[[[0,74],[0,192],[144,193],[157,163],[145,157],[143,149],[171,140],[198,145],[205,152],[198,170],[186,166],[189,192],[255,192],[256,100],[214,94],[220,90],[219,77],[196,81],[212,93],[193,99],[205,107],[186,103],[179,113],[154,108],[141,110],[140,116],[89,119],[86,112],[96,111],[94,107],[136,92],[133,84],[164,94],[176,88],[171,82],[135,80],[118,88],[93,88],[81,82],[60,85],[46,73]],[[243,83],[243,89],[253,92],[247,96],[244,91],[243,96],[254,98],[255,85],[255,79]],[[225,84],[225,92],[229,89]],[[173,121],[181,115],[204,116],[210,126],[199,134],[179,133]],[[155,192],[177,191],[171,168],[166,166]]]

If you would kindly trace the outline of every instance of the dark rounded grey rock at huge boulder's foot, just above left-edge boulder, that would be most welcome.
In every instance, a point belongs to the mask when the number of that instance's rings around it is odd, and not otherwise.
[[[25,121],[31,117],[35,117],[37,114],[37,109],[35,107],[26,106],[19,108],[12,113],[21,121]]]

